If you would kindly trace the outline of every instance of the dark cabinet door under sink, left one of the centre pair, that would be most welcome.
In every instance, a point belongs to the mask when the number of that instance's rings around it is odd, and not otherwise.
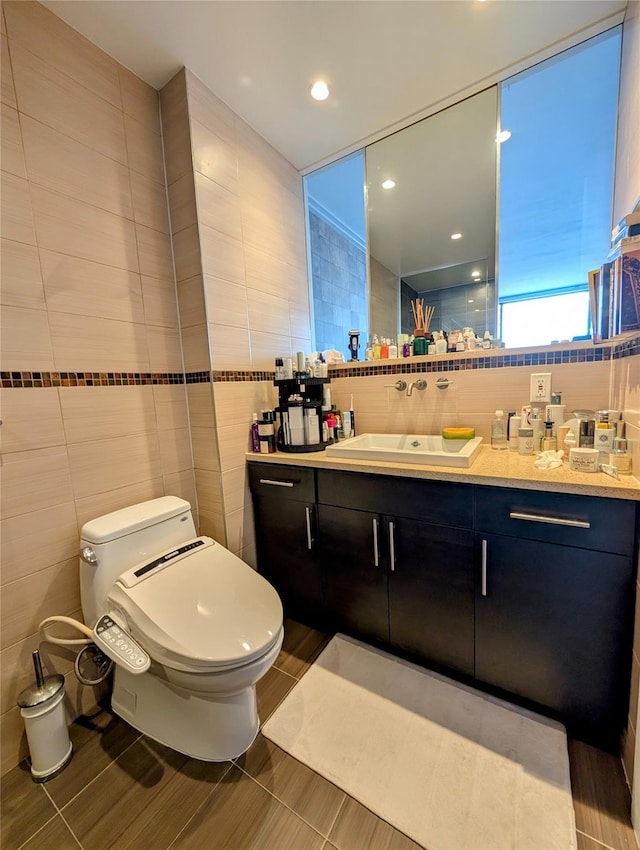
[[[387,566],[380,516],[318,505],[318,533],[323,599],[330,625],[337,631],[387,643]]]

